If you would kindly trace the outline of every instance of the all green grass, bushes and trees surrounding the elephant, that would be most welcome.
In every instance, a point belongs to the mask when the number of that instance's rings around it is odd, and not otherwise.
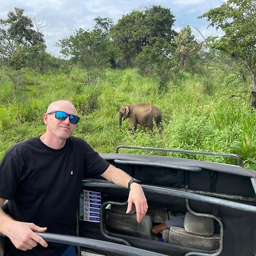
[[[227,152],[256,170],[254,3],[228,0],[203,14],[224,32],[204,42],[191,26],[176,32],[174,14],[162,6],[134,10],[116,24],[97,17],[92,31],[77,28],[57,42],[66,59],[46,52],[40,23],[22,9],[10,11],[0,19],[0,158],[14,143],[44,133],[42,114],[65,99],[81,116],[75,135],[99,152],[120,144]],[[163,133],[138,127],[131,134],[128,120],[119,130],[118,110],[132,103],[158,106]]]

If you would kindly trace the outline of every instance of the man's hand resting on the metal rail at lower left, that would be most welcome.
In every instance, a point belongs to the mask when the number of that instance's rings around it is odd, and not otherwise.
[[[7,224],[5,236],[9,237],[17,249],[27,251],[40,245],[47,247],[48,244],[35,232],[45,232],[47,228],[40,228],[33,223],[10,220]],[[34,232],[35,231],[35,232]]]

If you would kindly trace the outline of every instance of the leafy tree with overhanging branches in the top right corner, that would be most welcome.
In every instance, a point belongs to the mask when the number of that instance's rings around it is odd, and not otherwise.
[[[200,18],[207,17],[209,26],[221,28],[224,35],[208,38],[209,48],[224,51],[240,60],[250,72],[252,89],[256,90],[256,1],[228,0],[220,7],[210,9]]]

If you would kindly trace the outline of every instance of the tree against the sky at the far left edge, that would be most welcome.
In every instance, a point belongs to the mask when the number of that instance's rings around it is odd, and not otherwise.
[[[46,49],[42,25],[35,24],[23,13],[24,10],[15,8],[7,14],[7,19],[0,19],[0,59],[10,65],[14,63],[16,69],[27,62],[28,55],[36,59]],[[35,55],[31,56],[32,52]]]

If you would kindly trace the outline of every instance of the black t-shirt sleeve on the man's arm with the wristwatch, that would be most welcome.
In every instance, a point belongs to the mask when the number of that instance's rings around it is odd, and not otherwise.
[[[103,174],[110,166],[110,163],[103,159],[98,152],[94,151],[86,142],[84,145],[84,157],[86,167],[84,170],[84,178],[96,178]]]

